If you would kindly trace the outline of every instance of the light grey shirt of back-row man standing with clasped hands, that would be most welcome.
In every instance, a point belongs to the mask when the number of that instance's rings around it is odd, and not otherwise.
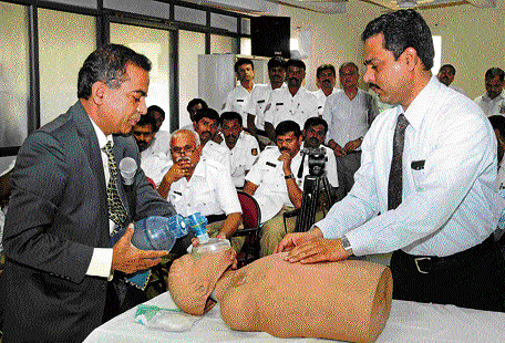
[[[348,142],[363,137],[378,113],[375,100],[363,90],[358,89],[352,101],[343,90],[337,91],[328,96],[322,114],[329,126],[327,143],[333,139],[343,148]]]

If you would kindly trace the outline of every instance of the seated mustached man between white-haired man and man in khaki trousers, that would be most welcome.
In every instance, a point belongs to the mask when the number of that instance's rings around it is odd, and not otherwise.
[[[243,117],[237,112],[225,112],[220,115],[221,131],[225,141],[221,146],[229,149],[231,178],[235,187],[243,188],[245,176],[258,159],[258,141],[244,132]]]

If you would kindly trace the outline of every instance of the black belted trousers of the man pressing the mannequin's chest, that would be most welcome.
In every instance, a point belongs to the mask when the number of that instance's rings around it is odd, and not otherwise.
[[[393,299],[505,312],[505,261],[493,237],[445,258],[391,257]]]

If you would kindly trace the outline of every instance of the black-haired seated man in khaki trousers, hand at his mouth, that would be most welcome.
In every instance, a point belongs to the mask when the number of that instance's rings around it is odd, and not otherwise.
[[[296,218],[284,214],[301,207],[303,178],[308,166],[300,169],[302,156],[300,126],[292,121],[276,127],[277,146],[268,146],[246,176],[244,191],[258,201],[261,209],[261,256],[274,252],[286,233],[295,230]],[[308,163],[308,162],[307,162]]]

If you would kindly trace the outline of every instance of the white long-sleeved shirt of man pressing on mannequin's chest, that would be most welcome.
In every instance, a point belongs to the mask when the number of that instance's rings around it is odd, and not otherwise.
[[[493,188],[496,137],[489,122],[474,102],[432,77],[405,111],[403,200],[388,210],[401,112],[396,106],[373,122],[353,188],[316,226],[326,238],[346,233],[357,256],[403,248],[443,257],[481,243],[505,207]]]

